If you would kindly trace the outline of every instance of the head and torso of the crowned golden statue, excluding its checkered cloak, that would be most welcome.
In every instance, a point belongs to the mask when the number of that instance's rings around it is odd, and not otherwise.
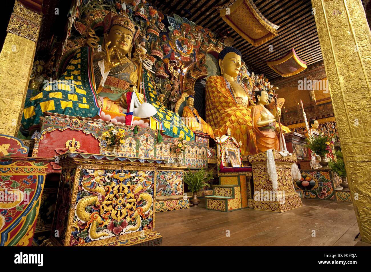
[[[104,51],[94,54],[93,60],[96,93],[105,115],[114,118],[128,110],[126,93],[135,92],[136,100],[143,103],[143,95],[137,93],[138,65],[130,59],[136,30],[128,17],[111,13],[104,17],[103,26]]]

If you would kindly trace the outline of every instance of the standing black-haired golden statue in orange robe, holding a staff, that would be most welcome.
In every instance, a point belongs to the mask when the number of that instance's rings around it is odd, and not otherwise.
[[[270,112],[265,105],[269,104],[269,95],[266,91],[256,91],[256,105],[251,108],[251,118],[253,120],[252,127],[255,132],[256,152],[265,152],[269,149],[280,150],[279,144],[279,124],[278,120],[281,117],[281,110],[275,111],[275,115]],[[285,126],[281,126],[281,130],[285,133]]]

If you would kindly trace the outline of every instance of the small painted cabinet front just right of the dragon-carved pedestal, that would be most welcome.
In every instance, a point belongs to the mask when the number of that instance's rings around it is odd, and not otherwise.
[[[184,194],[184,169],[165,166],[156,170],[156,212],[189,208],[192,195]]]

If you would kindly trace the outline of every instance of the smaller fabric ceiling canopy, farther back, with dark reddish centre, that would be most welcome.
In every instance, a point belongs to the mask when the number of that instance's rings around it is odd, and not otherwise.
[[[267,66],[282,77],[290,77],[306,69],[306,63],[296,55],[294,48],[292,48],[285,57],[268,61]]]

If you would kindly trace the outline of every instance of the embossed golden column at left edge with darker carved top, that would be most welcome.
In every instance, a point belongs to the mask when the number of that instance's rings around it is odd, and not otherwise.
[[[18,1],[0,53],[0,133],[17,136],[42,15]]]

